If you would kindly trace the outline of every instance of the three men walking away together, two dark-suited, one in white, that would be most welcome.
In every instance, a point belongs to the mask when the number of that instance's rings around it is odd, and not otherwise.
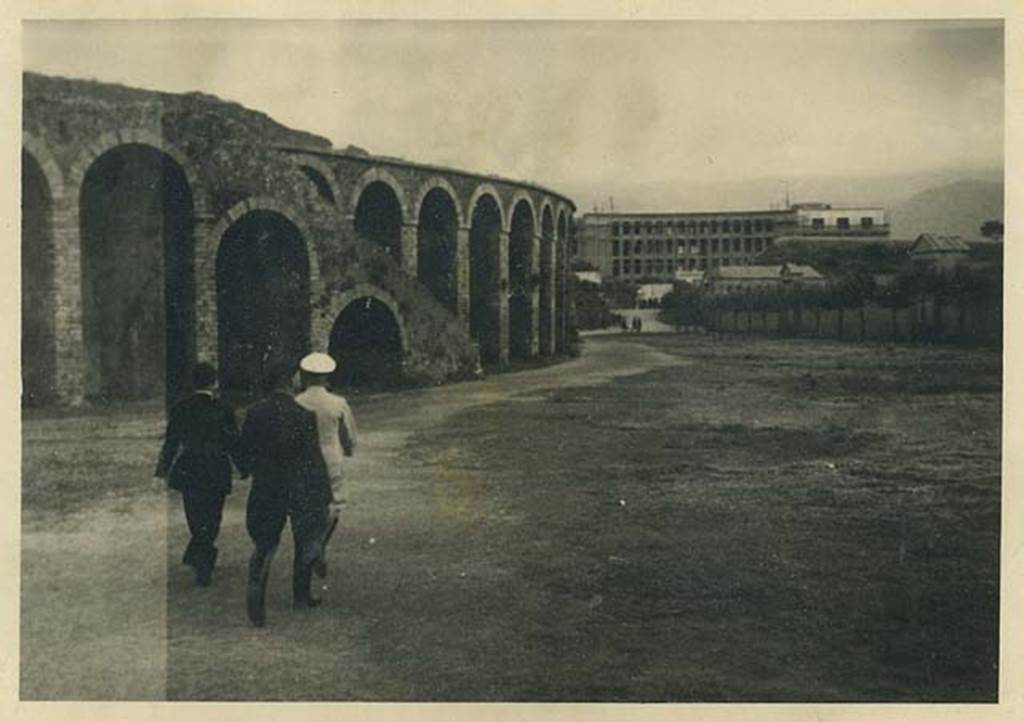
[[[216,369],[201,363],[193,370],[194,392],[168,416],[157,476],[181,493],[191,535],[182,562],[201,587],[210,585],[216,565],[232,463],[243,479],[252,476],[246,529],[254,550],[246,609],[257,627],[266,622],[270,561],[288,521],[295,542],[293,605],[321,603],[310,589],[312,576],[327,576],[327,544],[344,505],[342,460],[354,453],[356,437],[348,402],[327,388],[335,368],[326,353],[305,356],[298,395],[294,367],[267,370],[265,395],[249,409],[240,433],[233,409],[217,395]]]

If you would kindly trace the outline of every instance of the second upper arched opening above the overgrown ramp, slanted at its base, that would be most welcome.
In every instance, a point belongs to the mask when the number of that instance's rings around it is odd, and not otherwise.
[[[455,201],[442,188],[432,188],[420,206],[416,272],[434,298],[453,313],[458,308],[456,244],[459,216]]]

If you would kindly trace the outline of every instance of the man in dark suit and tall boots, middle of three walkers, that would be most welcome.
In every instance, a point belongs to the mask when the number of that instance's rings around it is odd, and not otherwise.
[[[328,523],[331,484],[316,432],[316,416],[292,396],[293,369],[265,374],[267,395],[249,410],[242,428],[243,476],[253,475],[246,528],[255,550],[249,561],[246,609],[257,627],[266,621],[266,583],[286,520],[295,555],[292,601],[296,608],[319,604],[309,590],[312,565]]]

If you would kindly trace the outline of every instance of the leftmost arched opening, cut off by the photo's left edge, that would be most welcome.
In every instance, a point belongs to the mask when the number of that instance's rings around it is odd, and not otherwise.
[[[53,398],[53,199],[36,159],[22,151],[22,405]]]

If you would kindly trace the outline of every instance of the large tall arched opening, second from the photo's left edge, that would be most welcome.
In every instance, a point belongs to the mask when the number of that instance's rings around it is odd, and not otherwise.
[[[79,218],[86,397],[173,402],[196,353],[184,171],[150,145],[119,145],[86,171]]]

